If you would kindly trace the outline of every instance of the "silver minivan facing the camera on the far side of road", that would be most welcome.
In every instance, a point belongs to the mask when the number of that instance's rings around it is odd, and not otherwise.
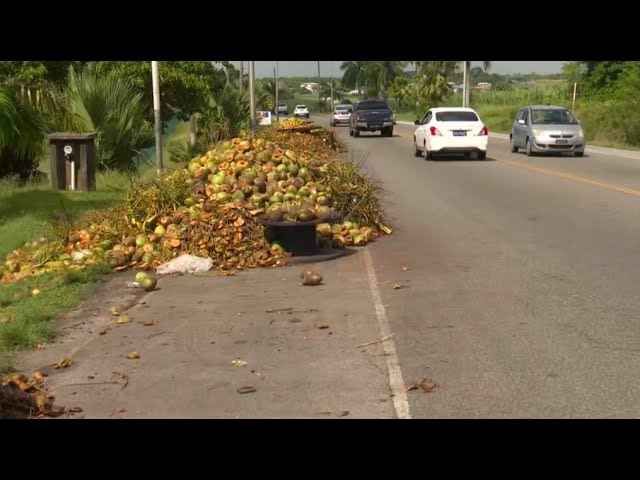
[[[586,139],[580,122],[565,107],[530,105],[516,115],[509,135],[511,151],[535,153],[570,152],[584,155]]]

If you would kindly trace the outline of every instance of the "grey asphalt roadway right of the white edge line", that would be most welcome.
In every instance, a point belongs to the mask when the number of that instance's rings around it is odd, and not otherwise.
[[[409,392],[412,417],[640,416],[640,158],[491,138],[485,161],[426,161],[413,126],[335,131],[392,203],[369,248],[380,284],[409,288],[382,302],[406,382],[438,384]]]

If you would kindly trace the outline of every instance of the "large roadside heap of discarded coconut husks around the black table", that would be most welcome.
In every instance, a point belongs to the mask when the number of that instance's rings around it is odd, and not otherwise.
[[[309,137],[302,142],[308,148],[299,151],[267,138],[221,142],[186,168],[135,186],[117,205],[92,212],[62,239],[12,252],[0,278],[98,262],[116,270],[149,269],[181,254],[210,257],[222,271],[284,265],[287,252],[265,238],[259,216],[303,222],[338,212],[344,223],[317,226],[319,241],[334,247],[364,245],[391,233],[384,226],[380,186],[352,162],[314,157],[327,147]]]

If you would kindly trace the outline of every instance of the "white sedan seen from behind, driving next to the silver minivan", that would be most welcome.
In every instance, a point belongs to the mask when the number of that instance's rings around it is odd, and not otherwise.
[[[433,159],[435,155],[472,153],[478,160],[487,156],[489,130],[472,108],[438,107],[430,109],[413,134],[416,157]]]

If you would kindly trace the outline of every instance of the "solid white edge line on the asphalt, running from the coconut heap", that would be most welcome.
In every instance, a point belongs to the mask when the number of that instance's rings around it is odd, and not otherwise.
[[[368,248],[364,250],[364,264],[367,269],[367,275],[369,276],[369,287],[371,288],[371,296],[373,297],[373,304],[376,309],[380,336],[386,337],[387,335],[391,335],[389,321],[387,320],[387,313],[384,309],[384,305],[382,304],[382,297],[380,296],[380,289],[378,288],[378,279],[373,268],[373,260]],[[407,398],[407,390],[402,378],[402,370],[400,370],[400,361],[396,354],[396,344],[393,339],[391,339],[386,342],[382,342],[382,346],[384,348],[385,358],[387,359],[389,386],[391,387],[391,393],[393,393],[393,406],[396,410],[396,415],[400,419],[410,419],[411,414],[409,413],[409,400]]]

